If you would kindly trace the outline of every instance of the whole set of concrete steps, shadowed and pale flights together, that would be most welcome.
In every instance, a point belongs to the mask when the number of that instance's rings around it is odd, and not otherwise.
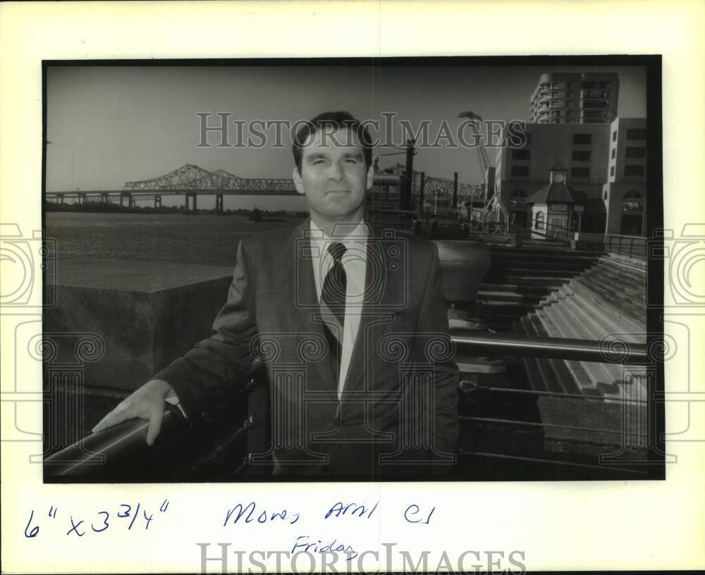
[[[492,249],[478,314],[497,330],[534,337],[645,343],[644,274],[568,249]],[[507,328],[502,328],[502,326]],[[509,328],[510,326],[510,328]],[[534,390],[601,402],[642,402],[645,370],[606,361],[522,358]]]

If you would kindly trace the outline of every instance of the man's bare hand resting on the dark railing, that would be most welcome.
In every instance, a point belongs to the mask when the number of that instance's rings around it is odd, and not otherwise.
[[[164,417],[164,400],[166,400],[166,397],[175,395],[176,393],[171,388],[171,385],[166,383],[166,381],[161,379],[148,381],[118,403],[118,406],[101,419],[92,431],[97,433],[126,419],[141,417],[149,420],[147,445],[152,445],[161,429],[161,419]]]

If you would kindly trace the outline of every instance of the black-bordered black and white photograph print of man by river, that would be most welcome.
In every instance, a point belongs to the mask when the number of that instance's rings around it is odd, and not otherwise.
[[[43,72],[45,482],[663,478],[660,58]]]

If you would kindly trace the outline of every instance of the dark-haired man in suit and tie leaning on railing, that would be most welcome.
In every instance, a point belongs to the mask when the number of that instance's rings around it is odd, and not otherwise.
[[[271,398],[274,474],[443,476],[458,439],[458,368],[435,245],[364,218],[372,142],[347,112],[313,118],[293,142],[310,218],[245,238],[213,334],[159,371],[94,428],[185,415],[241,385],[257,358]]]

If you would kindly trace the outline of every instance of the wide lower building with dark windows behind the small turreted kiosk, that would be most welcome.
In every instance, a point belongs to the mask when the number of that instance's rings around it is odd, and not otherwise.
[[[560,163],[562,183],[577,190],[584,205],[580,218],[572,214],[566,221],[568,228],[575,229],[580,219],[583,232],[646,233],[646,118],[534,123],[526,125],[526,133],[524,147],[500,148],[495,161],[494,197],[515,225],[533,228],[538,208],[527,199],[551,183]],[[548,222],[551,213],[540,217]]]

